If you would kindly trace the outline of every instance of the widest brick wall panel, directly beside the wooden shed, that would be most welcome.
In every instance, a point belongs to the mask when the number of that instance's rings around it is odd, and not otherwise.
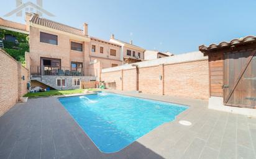
[[[208,60],[165,66],[165,95],[189,98],[209,97]]]

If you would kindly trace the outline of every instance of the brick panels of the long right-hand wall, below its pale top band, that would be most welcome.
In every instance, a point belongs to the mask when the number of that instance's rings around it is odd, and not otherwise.
[[[160,76],[162,75],[162,80]],[[101,80],[115,81],[122,90],[122,71],[104,72]],[[123,70],[123,90],[136,90],[135,69]],[[139,68],[139,90],[143,93],[208,99],[208,59]]]

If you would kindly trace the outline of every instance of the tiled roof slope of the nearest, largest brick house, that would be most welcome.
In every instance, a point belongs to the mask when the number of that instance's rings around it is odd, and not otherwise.
[[[60,23],[54,22],[52,20],[43,19],[36,15],[33,15],[33,17],[31,18],[30,21],[34,24],[42,25],[42,26],[48,27],[48,28],[53,28],[55,30],[60,30],[62,32],[72,33],[75,35],[79,35],[81,37],[88,37],[83,34],[83,30],[81,30],[81,29],[70,27],[65,24],[60,24]]]

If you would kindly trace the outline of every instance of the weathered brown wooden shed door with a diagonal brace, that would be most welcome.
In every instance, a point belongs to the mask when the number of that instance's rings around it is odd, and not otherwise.
[[[256,50],[224,54],[224,105],[256,108]]]

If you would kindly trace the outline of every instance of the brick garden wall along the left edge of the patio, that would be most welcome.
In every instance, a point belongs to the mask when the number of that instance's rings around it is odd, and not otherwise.
[[[0,116],[27,93],[29,71],[0,49]],[[25,80],[22,80],[22,75]]]

